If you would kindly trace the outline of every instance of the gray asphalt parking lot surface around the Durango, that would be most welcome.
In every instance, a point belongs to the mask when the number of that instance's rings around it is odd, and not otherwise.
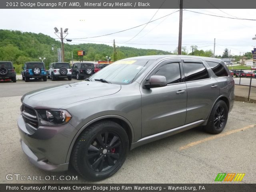
[[[57,173],[42,171],[30,164],[20,147],[16,122],[24,90],[63,83],[69,82],[0,84],[0,183],[92,183],[72,168]],[[218,173],[245,173],[242,183],[256,183],[255,135],[256,104],[235,102],[221,134],[207,134],[199,127],[140,146],[128,153],[116,174],[98,183],[214,183]],[[8,174],[12,177],[7,179]],[[16,180],[14,174],[24,180]],[[33,176],[38,179],[28,179]],[[48,180],[49,176],[55,177]],[[78,180],[60,180],[60,176],[77,176]]]

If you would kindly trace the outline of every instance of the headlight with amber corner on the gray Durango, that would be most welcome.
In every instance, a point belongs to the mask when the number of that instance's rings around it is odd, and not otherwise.
[[[72,115],[64,109],[37,109],[39,123],[43,125],[63,125],[70,121]]]

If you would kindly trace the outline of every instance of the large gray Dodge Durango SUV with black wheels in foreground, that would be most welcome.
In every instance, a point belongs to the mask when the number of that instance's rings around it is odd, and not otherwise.
[[[234,80],[220,59],[142,56],[119,60],[90,78],[25,94],[18,128],[32,164],[89,180],[117,172],[128,150],[203,126],[224,129]]]

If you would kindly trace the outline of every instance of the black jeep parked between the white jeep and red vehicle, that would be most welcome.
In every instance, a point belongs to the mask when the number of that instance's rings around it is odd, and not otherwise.
[[[93,63],[74,63],[72,66],[72,77],[76,77],[77,80],[90,77],[92,74],[94,74]]]

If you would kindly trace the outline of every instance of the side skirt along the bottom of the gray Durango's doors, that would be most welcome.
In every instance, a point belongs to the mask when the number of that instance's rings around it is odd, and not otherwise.
[[[130,150],[132,150],[138,146],[144,145],[146,143],[150,143],[150,142],[153,142],[153,141],[156,141],[156,140],[159,140],[159,139],[192,129],[194,127],[202,125],[204,122],[205,122],[205,120],[199,120],[199,121],[196,121],[196,122],[193,122],[193,123],[181,126],[181,127],[177,127],[177,128],[170,129],[170,130],[167,130],[167,131],[164,131],[161,133],[157,133],[154,135],[144,137],[144,138],[138,140],[137,142],[132,143]]]

